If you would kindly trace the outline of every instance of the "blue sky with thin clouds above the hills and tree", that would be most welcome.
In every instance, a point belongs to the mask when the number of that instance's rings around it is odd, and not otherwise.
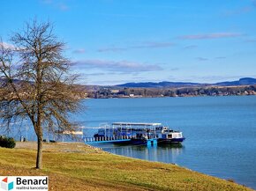
[[[82,84],[256,77],[256,0],[2,0],[4,42],[54,24]]]

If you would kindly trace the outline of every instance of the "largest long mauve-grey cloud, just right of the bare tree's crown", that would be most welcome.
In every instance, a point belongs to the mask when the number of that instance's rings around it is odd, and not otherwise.
[[[119,72],[143,72],[162,70],[162,67],[156,64],[142,64],[127,61],[106,61],[106,60],[83,60],[73,62],[79,69],[100,69]]]

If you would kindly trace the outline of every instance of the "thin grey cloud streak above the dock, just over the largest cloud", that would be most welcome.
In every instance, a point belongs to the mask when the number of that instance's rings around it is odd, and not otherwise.
[[[117,51],[125,51],[130,49],[140,49],[140,48],[169,48],[175,46],[174,43],[166,41],[166,42],[157,42],[157,41],[150,41],[144,42],[138,45],[132,45],[127,47],[109,47],[109,48],[100,48],[98,49],[99,52],[117,52]]]

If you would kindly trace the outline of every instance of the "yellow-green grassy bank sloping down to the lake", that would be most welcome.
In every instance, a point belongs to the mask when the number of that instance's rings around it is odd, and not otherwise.
[[[34,143],[0,148],[0,175],[49,175],[49,190],[251,190],[177,165],[124,158],[83,144],[45,144],[43,170]]]

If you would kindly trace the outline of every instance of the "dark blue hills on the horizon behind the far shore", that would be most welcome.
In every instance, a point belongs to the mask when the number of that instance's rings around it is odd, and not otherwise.
[[[207,85],[219,85],[219,86],[232,86],[232,85],[251,85],[256,84],[256,79],[252,77],[240,78],[237,81],[219,82],[215,84],[202,84],[191,82],[144,82],[144,83],[126,83],[117,84],[118,87],[140,87],[140,88],[165,88],[165,87],[187,87],[187,86],[207,86]]]

